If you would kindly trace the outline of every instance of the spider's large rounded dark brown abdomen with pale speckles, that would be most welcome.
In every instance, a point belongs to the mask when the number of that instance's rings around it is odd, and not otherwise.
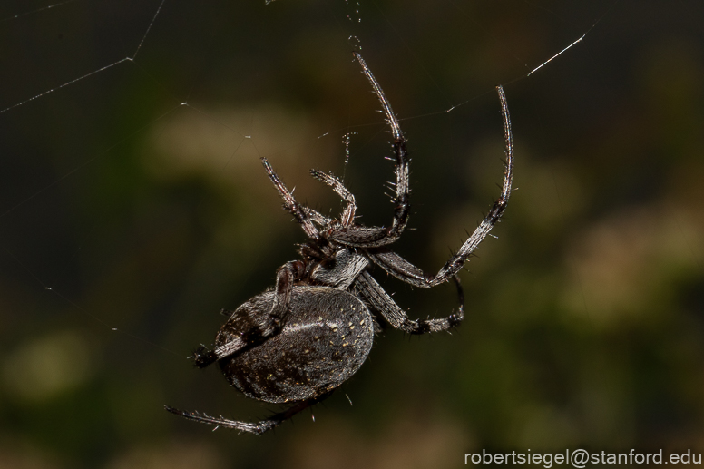
[[[241,334],[252,318],[265,317],[274,298],[268,291],[240,306],[220,330],[216,346]],[[246,396],[271,403],[303,401],[327,394],[354,375],[373,337],[373,319],[358,298],[337,288],[297,286],[279,334],[220,359],[220,368]]]

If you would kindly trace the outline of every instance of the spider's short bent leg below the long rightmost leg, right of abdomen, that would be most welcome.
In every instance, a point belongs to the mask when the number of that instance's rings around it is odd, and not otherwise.
[[[459,279],[455,278],[455,285],[460,299],[460,308],[457,313],[451,314],[447,318],[436,319],[409,319],[406,311],[399,308],[391,297],[388,296],[384,288],[376,283],[376,280],[367,272],[363,272],[355,279],[353,288],[357,293],[367,299],[367,302],[383,316],[388,323],[403,330],[408,334],[426,334],[428,332],[442,332],[456,327],[464,319],[464,294]]]

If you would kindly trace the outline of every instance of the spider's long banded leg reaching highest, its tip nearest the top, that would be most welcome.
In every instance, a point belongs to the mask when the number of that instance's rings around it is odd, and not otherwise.
[[[401,126],[398,125],[398,120],[394,111],[391,109],[391,104],[386,99],[384,91],[376,81],[374,74],[367,66],[360,54],[354,53],[357,62],[362,66],[362,73],[367,76],[367,80],[371,83],[376,97],[381,103],[381,107],[386,114],[386,122],[391,127],[391,134],[394,137],[392,148],[396,155],[396,196],[394,197],[394,220],[390,227],[356,227],[356,226],[341,226],[331,230],[328,233],[328,239],[332,239],[341,244],[356,248],[374,248],[386,246],[396,241],[401,236],[401,233],[406,228],[408,215],[410,213],[409,204],[409,189],[408,189],[408,151],[406,151],[406,138],[401,132]],[[338,192],[339,193],[339,192]]]

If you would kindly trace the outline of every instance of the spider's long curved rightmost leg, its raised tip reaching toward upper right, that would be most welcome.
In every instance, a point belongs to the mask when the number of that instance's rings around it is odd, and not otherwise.
[[[406,259],[403,259],[401,256],[390,250],[379,249],[369,252],[369,257],[375,264],[386,270],[387,273],[413,285],[414,287],[435,287],[436,285],[439,285],[455,276],[455,274],[462,269],[464,262],[469,258],[474,249],[476,249],[479,243],[486,238],[489,231],[491,231],[492,228],[494,228],[494,225],[501,219],[504,210],[506,210],[508,199],[511,196],[511,185],[513,183],[513,134],[511,132],[511,116],[508,112],[504,88],[497,86],[496,90],[499,93],[501,114],[504,120],[504,153],[506,155],[506,163],[504,166],[504,184],[502,186],[499,199],[494,202],[491,210],[489,210],[489,213],[486,214],[484,220],[479,223],[479,226],[476,227],[476,230],[474,230],[472,236],[464,241],[464,244],[457,251],[455,256],[450,258],[445,263],[445,266],[443,266],[443,268],[440,269],[435,276],[425,274],[422,269],[418,269]]]

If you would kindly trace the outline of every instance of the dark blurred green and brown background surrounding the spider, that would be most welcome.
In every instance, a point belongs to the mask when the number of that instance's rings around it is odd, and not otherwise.
[[[51,5],[0,5],[0,467],[704,451],[704,4]],[[361,222],[391,220],[360,47],[412,156],[395,249],[431,272],[498,194],[504,83],[516,190],[462,274],[464,324],[386,329],[345,386],[267,435],[164,412],[280,410],[185,358],[304,241],[259,156],[318,210],[340,202],[310,168],[344,177]],[[452,286],[376,278],[413,318],[456,308]]]

